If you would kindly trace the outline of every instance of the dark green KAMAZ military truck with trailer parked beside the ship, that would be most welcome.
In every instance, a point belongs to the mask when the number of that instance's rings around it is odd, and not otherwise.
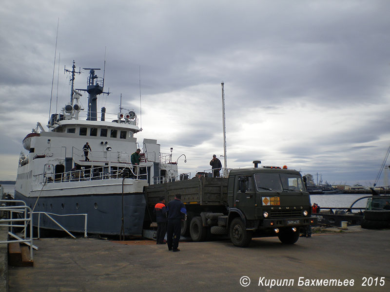
[[[279,237],[293,244],[300,229],[313,223],[310,195],[302,176],[287,167],[232,169],[228,178],[201,177],[145,188],[148,209],[159,197],[176,194],[187,208],[181,235],[203,241],[210,234],[228,235],[235,246],[248,246],[252,237]]]

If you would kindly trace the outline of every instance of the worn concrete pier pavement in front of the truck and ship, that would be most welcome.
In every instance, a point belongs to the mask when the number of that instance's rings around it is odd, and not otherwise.
[[[33,268],[8,268],[9,292],[389,291],[389,242],[390,230],[360,226],[294,245],[180,242],[178,253],[149,240],[44,238],[34,242]]]

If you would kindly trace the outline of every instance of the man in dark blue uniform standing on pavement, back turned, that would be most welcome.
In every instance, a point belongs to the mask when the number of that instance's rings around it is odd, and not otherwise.
[[[175,200],[168,203],[168,231],[167,231],[167,244],[168,250],[173,252],[179,252],[177,248],[179,246],[179,239],[181,233],[181,221],[184,221],[187,214],[186,207],[183,202],[180,201],[181,195],[176,194]]]

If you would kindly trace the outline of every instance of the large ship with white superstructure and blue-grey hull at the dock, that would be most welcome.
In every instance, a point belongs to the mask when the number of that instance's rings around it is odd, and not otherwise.
[[[96,100],[105,93],[104,80],[95,75],[98,69],[89,70],[84,90],[89,94],[87,119],[79,119],[84,112],[79,103],[82,90],[73,89],[77,73],[73,65],[71,102],[60,114],[51,115],[48,130],[38,123],[23,140],[28,152],[20,154],[15,199],[26,201],[34,211],[88,214],[90,233],[141,234],[144,186],[175,180],[177,165],[172,162],[172,151],[160,153],[156,140],[137,143],[135,134],[140,129],[135,111],[119,112],[107,121],[102,108],[98,120]],[[91,150],[83,148],[87,142]],[[137,148],[141,162],[132,165],[131,155]],[[41,226],[58,229],[50,219],[40,220]],[[79,216],[56,220],[69,231],[84,230]]]

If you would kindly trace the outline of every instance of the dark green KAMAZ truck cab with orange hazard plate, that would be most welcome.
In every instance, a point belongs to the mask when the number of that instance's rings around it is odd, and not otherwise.
[[[252,237],[278,236],[292,244],[312,223],[310,195],[300,173],[274,166],[233,169],[228,179],[226,226],[234,245]]]

